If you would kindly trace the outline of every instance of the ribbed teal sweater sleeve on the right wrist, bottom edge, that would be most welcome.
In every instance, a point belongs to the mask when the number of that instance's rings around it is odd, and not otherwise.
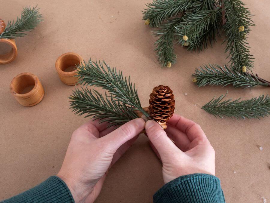
[[[161,202],[225,202],[220,180],[209,174],[180,176],[154,194],[154,203]]]

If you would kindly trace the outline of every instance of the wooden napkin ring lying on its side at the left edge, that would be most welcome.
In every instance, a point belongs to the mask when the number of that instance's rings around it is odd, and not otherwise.
[[[0,55],[0,64],[10,63],[11,61],[13,61],[16,58],[16,56],[18,54],[15,40],[14,39],[0,39],[0,46],[1,46],[1,44],[7,44],[7,45],[11,46],[12,50],[7,54]]]

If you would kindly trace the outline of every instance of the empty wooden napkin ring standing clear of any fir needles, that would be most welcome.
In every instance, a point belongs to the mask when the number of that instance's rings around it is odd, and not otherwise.
[[[32,90],[23,93],[25,88],[32,86],[34,86]],[[22,106],[34,106],[44,97],[44,89],[38,77],[29,72],[21,73],[12,79],[10,92]]]

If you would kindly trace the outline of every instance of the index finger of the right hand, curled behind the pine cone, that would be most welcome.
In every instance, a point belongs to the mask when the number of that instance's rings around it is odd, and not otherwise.
[[[167,123],[175,126],[180,131],[185,133],[191,142],[198,137],[206,138],[205,133],[197,123],[187,118],[184,118],[181,115],[174,114],[173,117],[170,118],[169,121],[167,121]]]

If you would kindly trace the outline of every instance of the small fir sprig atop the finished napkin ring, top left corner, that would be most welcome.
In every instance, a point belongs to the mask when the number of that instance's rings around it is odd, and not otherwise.
[[[16,37],[23,37],[27,35],[24,32],[31,32],[42,21],[42,15],[39,14],[39,8],[26,7],[23,8],[21,18],[17,17],[17,20],[10,20],[7,26],[0,34],[0,38],[14,39]]]

